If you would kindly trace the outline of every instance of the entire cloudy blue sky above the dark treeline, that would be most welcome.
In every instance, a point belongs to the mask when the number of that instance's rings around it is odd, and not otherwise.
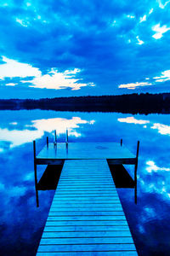
[[[4,0],[0,98],[170,91],[170,1]]]

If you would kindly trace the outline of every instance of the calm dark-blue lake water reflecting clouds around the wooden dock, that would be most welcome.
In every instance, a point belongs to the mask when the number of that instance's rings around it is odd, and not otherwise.
[[[133,189],[118,189],[139,255],[170,255],[170,120],[168,115],[0,112],[0,254],[35,255],[54,191],[40,191],[36,207],[32,140],[120,142],[133,152],[140,141],[138,204]],[[44,167],[38,166],[38,177]],[[133,169],[128,167],[133,176]]]

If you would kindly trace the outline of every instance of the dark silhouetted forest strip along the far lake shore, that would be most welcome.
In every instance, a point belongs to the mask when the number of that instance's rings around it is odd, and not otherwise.
[[[37,108],[81,112],[170,113],[170,93],[0,100],[1,110]]]

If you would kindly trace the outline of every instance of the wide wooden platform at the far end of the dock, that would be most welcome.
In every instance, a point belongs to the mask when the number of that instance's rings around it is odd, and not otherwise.
[[[134,164],[136,156],[120,143],[54,143],[42,148],[37,154],[38,164],[55,164],[58,160],[107,159]]]

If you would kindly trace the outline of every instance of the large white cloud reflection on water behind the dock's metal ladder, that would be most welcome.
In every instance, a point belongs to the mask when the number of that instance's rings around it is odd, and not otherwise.
[[[94,120],[85,120],[79,117],[73,117],[71,119],[37,119],[31,121],[31,125],[26,125],[25,130],[8,130],[0,128],[0,141],[5,141],[10,144],[10,148],[20,146],[24,143],[31,143],[37,138],[41,138],[45,132],[51,133],[56,130],[58,136],[65,133],[65,130],[69,130],[69,135],[73,137],[81,137],[82,133],[77,131],[80,125],[93,125]],[[13,125],[16,125],[15,122]],[[32,129],[34,128],[34,129]]]

